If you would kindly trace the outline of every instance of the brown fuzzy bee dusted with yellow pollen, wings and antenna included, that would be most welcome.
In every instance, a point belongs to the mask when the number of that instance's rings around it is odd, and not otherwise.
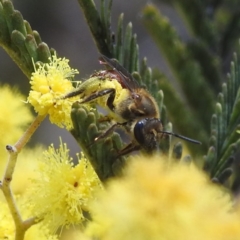
[[[115,124],[96,137],[94,142],[108,136],[116,127],[122,126],[132,135],[133,140],[120,150],[118,157],[140,149],[152,153],[157,150],[159,141],[165,135],[201,144],[199,141],[164,131],[158,105],[151,94],[116,60],[102,55],[100,63],[106,65],[109,70],[93,74],[78,89],[64,97],[79,95],[80,103],[94,102],[108,110],[106,119],[114,120]]]

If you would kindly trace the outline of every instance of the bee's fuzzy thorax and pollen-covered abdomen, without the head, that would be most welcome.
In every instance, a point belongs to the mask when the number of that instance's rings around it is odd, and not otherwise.
[[[108,110],[108,117],[119,123],[159,117],[157,103],[149,92],[141,87],[130,91],[112,70],[93,74],[79,86],[77,95],[81,103],[94,102]]]

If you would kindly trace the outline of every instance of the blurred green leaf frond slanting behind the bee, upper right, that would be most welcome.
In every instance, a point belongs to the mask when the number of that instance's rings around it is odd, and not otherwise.
[[[188,105],[195,114],[195,119],[199,119],[202,122],[202,128],[207,129],[214,98],[212,90],[201,73],[200,66],[192,59],[185,44],[180,40],[169,21],[161,16],[153,5],[144,8],[143,23],[182,86],[185,97],[188,99]],[[201,94],[203,97],[200,97]],[[208,108],[203,106],[208,106]],[[184,116],[178,117],[183,118]]]

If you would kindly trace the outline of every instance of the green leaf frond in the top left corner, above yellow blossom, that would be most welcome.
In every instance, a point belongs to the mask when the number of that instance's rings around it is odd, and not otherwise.
[[[0,0],[0,45],[28,78],[32,61],[48,62],[53,52],[9,0]]]

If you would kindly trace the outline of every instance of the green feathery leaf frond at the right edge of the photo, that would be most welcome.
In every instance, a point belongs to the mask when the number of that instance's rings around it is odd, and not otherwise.
[[[210,147],[204,157],[204,169],[209,172],[211,178],[220,183],[224,183],[231,175],[230,167],[240,146],[239,133],[237,133],[240,128],[239,87],[239,60],[237,54],[234,54],[231,73],[218,95],[211,122]],[[234,180],[231,184],[235,184]]]

